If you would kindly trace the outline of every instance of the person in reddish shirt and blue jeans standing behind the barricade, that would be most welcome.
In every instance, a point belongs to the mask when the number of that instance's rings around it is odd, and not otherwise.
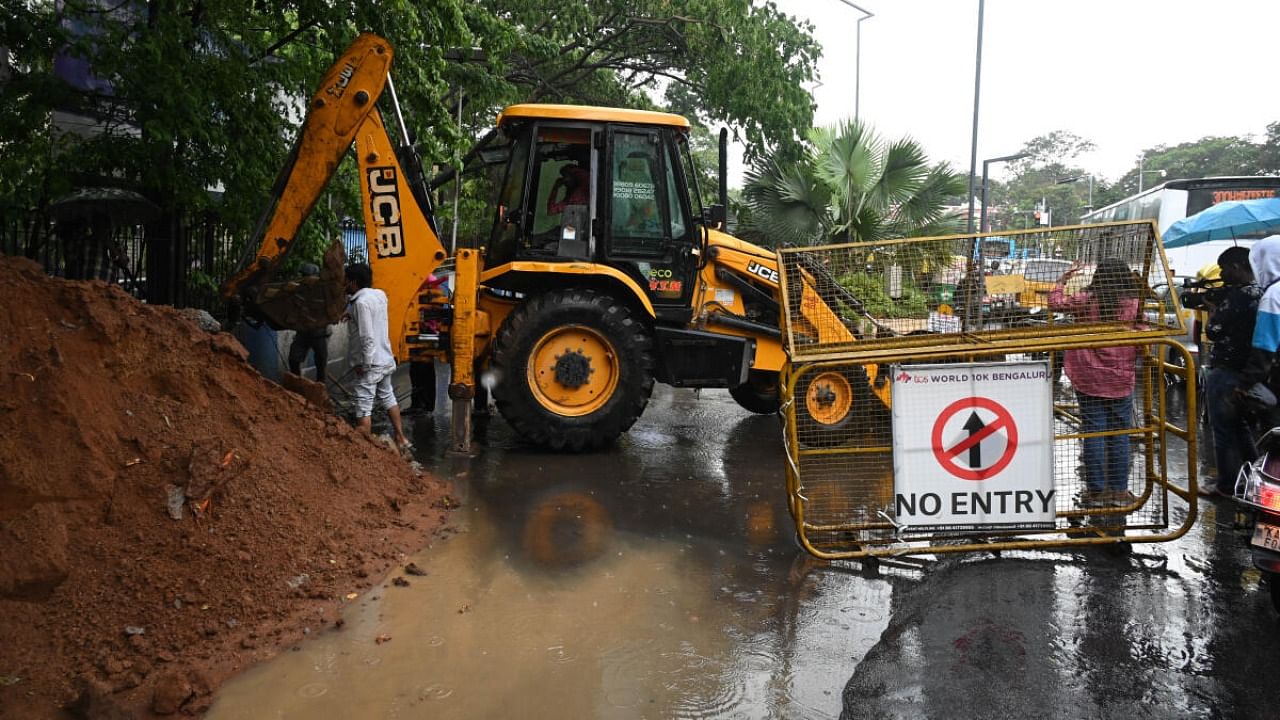
[[[1138,283],[1129,265],[1119,258],[1098,263],[1093,279],[1080,292],[1068,296],[1066,283],[1083,266],[1073,264],[1050,292],[1051,310],[1070,313],[1084,323],[1132,323],[1139,316]],[[1080,432],[1105,433],[1133,428],[1133,391],[1137,386],[1138,348],[1112,346],[1068,350],[1064,369],[1080,405]],[[1129,436],[1085,437],[1085,507],[1126,506],[1137,501],[1129,491]]]

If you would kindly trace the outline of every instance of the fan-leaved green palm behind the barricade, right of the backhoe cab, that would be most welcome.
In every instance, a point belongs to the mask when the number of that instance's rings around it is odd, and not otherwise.
[[[812,129],[797,161],[755,164],[742,195],[749,231],[774,245],[815,245],[959,232],[945,201],[964,192],[963,177],[943,163],[929,165],[914,140],[884,142],[846,120]]]

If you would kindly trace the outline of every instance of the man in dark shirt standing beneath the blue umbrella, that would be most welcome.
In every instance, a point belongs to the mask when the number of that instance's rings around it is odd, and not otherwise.
[[[1249,360],[1253,323],[1258,315],[1262,288],[1253,282],[1247,247],[1229,247],[1217,258],[1222,270],[1222,290],[1215,297],[1204,336],[1212,342],[1210,372],[1204,383],[1208,423],[1213,429],[1213,455],[1217,479],[1204,483],[1201,495],[1230,496],[1243,462],[1252,461],[1253,430],[1240,413],[1236,388],[1245,389],[1244,368]]]

